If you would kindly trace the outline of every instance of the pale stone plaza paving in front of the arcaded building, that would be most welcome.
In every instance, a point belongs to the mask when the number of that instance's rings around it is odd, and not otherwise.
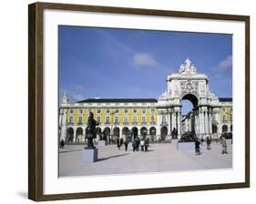
[[[150,144],[148,152],[133,152],[128,146],[118,150],[116,145],[98,148],[98,160],[87,163],[82,159],[85,146],[69,145],[59,149],[59,176],[89,176],[159,171],[199,170],[232,168],[232,145],[228,143],[229,154],[221,154],[220,143],[212,142],[211,149],[201,146],[201,155],[194,150],[178,151],[174,144]]]

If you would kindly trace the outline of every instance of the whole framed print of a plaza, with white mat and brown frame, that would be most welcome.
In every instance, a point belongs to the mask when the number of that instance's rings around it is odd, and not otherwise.
[[[29,199],[250,186],[250,17],[29,5]]]

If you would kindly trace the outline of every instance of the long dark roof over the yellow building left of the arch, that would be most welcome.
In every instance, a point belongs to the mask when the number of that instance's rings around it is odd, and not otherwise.
[[[87,98],[77,103],[157,103],[156,98]]]

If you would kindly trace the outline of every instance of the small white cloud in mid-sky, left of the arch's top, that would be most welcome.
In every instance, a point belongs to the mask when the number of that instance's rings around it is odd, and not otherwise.
[[[137,53],[132,57],[134,66],[158,66],[159,63],[146,53]]]

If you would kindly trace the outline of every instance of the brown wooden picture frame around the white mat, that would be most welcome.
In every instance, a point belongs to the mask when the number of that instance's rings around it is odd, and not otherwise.
[[[250,16],[219,15],[167,10],[149,10],[94,5],[66,5],[35,3],[28,6],[28,199],[36,201],[55,199],[87,199],[156,193],[185,192],[210,189],[237,189],[250,187]],[[225,20],[245,24],[245,163],[244,182],[220,183],[149,189],[119,189],[78,193],[44,193],[44,11],[79,11],[123,15],[171,16],[191,19]]]

